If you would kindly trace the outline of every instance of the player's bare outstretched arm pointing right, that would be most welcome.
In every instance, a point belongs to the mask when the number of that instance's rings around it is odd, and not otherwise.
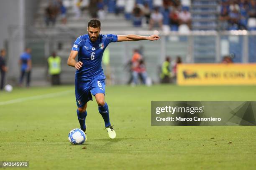
[[[159,40],[160,37],[158,35],[150,35],[150,36],[141,36],[141,35],[118,35],[118,41],[140,41],[140,40]]]

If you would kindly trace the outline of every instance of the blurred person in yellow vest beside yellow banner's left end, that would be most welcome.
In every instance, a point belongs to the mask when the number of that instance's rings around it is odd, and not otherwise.
[[[169,56],[166,57],[165,61],[161,67],[161,82],[162,83],[169,83],[171,82],[171,58]]]

